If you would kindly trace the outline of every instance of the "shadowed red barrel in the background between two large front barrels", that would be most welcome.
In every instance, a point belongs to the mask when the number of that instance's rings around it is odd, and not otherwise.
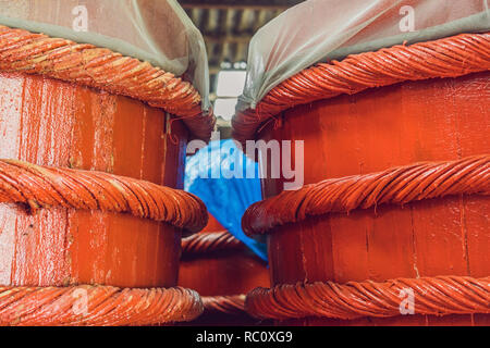
[[[270,281],[266,263],[209,215],[205,229],[183,239],[179,285],[203,298],[205,312],[191,325],[255,325],[246,294]]]

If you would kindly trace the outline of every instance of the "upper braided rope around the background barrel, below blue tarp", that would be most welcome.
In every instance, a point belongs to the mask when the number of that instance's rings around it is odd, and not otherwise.
[[[198,233],[182,239],[184,256],[243,249],[243,244],[228,231]]]

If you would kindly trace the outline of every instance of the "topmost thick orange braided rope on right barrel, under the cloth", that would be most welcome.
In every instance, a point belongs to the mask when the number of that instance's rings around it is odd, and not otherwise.
[[[490,33],[348,55],[304,70],[269,91],[256,110],[238,112],[232,122],[233,137],[243,144],[254,139],[261,124],[295,105],[404,80],[457,77],[489,69]]]

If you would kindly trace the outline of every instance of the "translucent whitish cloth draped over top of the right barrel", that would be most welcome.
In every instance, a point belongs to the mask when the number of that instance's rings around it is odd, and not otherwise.
[[[258,103],[273,87],[316,63],[489,29],[486,0],[305,1],[253,37],[237,109],[260,112]]]

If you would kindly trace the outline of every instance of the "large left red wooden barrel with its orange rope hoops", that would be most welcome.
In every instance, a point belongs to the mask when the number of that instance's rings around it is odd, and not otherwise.
[[[14,49],[14,38],[23,36],[32,51]],[[207,221],[204,204],[177,190],[189,130],[162,107],[172,100],[145,99],[151,89],[135,84],[151,80],[127,72],[140,70],[157,79],[170,74],[108,50],[20,29],[2,27],[0,41],[0,158],[5,159],[0,301],[10,301],[0,306],[0,322],[115,325],[194,319],[201,311],[198,296],[173,288],[182,232],[197,232]],[[53,46],[72,53],[60,55],[50,51]],[[66,66],[64,59],[77,62],[74,52],[93,61]],[[97,65],[102,58],[115,65]],[[94,88],[103,79],[103,89]],[[164,88],[155,86],[150,98]],[[192,102],[184,104],[184,115],[189,119],[188,110],[197,108],[196,117],[203,117],[198,100]],[[179,112],[175,105],[170,110]],[[73,314],[82,290],[87,311]],[[22,312],[23,299],[15,302],[8,291],[32,294],[33,309]],[[39,294],[49,291],[62,291],[63,301],[44,302]],[[113,303],[100,309],[101,298]]]

